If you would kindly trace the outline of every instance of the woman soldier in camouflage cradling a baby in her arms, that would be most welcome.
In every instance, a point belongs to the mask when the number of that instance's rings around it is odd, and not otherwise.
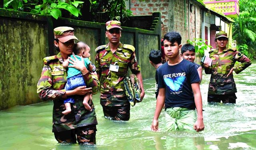
[[[70,27],[58,27],[54,29],[54,45],[59,53],[44,58],[44,67],[41,78],[37,84],[37,93],[42,100],[53,100],[53,125],[52,132],[59,143],[96,144],[96,114],[92,100],[88,103],[93,108],[86,110],[83,105],[84,94],[97,93],[99,81],[96,74],[88,72],[84,62],[78,59],[69,61],[72,67],[80,70],[86,85],[74,90],[64,90],[67,82],[67,72],[62,66],[64,60],[73,52],[74,29]],[[64,115],[66,108],[63,100],[68,96],[74,97],[75,103],[71,104],[71,113]]]

